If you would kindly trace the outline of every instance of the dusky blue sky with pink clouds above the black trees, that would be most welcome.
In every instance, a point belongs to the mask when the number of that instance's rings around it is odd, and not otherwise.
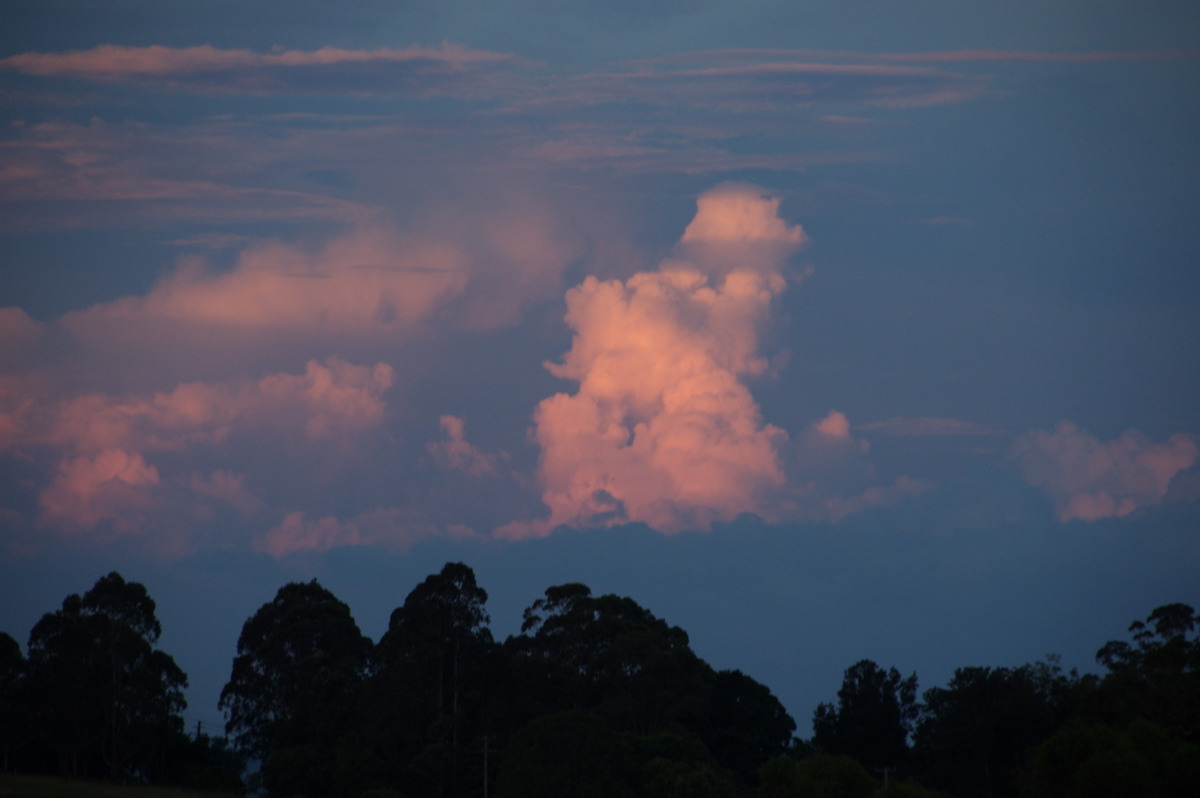
[[[634,598],[809,733],[1200,606],[1200,7],[10,0],[0,630]]]

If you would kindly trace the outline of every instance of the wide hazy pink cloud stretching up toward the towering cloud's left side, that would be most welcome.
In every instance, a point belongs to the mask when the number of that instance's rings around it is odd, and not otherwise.
[[[511,325],[529,304],[560,290],[582,244],[554,210],[509,199],[494,210],[414,220],[420,232],[362,224],[318,247],[254,244],[223,271],[187,257],[145,295],[76,311],[62,323],[80,340],[122,349],[198,329],[235,331],[245,349],[280,336],[394,342],[434,317],[468,329]]]

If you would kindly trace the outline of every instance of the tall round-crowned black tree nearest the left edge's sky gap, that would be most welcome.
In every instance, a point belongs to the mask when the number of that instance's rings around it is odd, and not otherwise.
[[[145,778],[146,757],[182,730],[187,676],[155,647],[161,634],[145,587],[116,572],[34,626],[26,695],[62,773],[86,773],[98,752],[110,778]]]

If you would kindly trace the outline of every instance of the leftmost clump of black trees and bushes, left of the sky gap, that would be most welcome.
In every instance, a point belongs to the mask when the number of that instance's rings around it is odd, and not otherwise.
[[[5,770],[184,784],[206,769],[206,784],[240,791],[240,757],[184,734],[187,677],[161,634],[145,587],[113,572],[37,622],[28,661],[0,636]]]

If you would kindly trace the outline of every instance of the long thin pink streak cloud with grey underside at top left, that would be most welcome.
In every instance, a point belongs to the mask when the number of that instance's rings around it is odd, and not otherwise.
[[[449,42],[439,47],[353,50],[275,50],[198,47],[121,47],[101,44],[71,53],[22,53],[0,59],[0,70],[36,77],[94,82],[140,82],[161,89],[245,91],[430,92],[448,91],[454,80],[480,67],[512,62],[499,53]]]

